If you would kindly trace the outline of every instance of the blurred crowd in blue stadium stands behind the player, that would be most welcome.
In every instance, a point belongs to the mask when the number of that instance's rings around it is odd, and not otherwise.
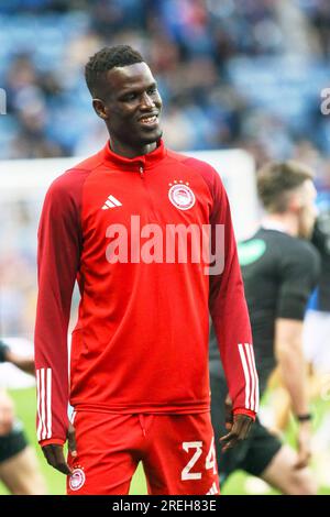
[[[0,160],[100,148],[107,133],[84,66],[119,43],[140,50],[157,78],[169,147],[246,148],[256,166],[296,157],[330,188],[330,116],[320,109],[330,86],[329,0],[1,0]],[[24,202],[0,207],[0,327],[26,336],[36,217]]]

